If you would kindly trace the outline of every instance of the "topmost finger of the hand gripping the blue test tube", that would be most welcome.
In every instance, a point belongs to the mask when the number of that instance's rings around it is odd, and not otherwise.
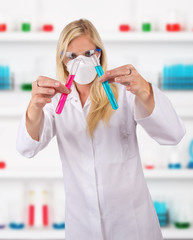
[[[131,64],[121,66],[121,67],[118,67],[118,68],[114,68],[112,70],[106,71],[99,78],[99,81],[104,82],[104,81],[107,81],[109,78],[115,78],[115,77],[122,76],[122,75],[130,75],[132,69],[134,69],[134,68]]]

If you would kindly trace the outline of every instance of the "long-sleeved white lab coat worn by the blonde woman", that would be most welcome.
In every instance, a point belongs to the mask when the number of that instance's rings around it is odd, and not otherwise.
[[[55,135],[66,193],[67,240],[162,240],[157,215],[143,174],[136,124],[160,144],[177,144],[185,134],[168,98],[155,86],[155,108],[148,116],[135,96],[119,87],[119,108],[91,139],[86,132],[90,100],[82,108],[73,86],[61,115],[60,95],[44,108],[40,141],[21,121],[17,149],[33,157]]]

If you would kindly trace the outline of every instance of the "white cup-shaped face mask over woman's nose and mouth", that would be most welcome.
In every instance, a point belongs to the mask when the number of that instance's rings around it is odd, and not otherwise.
[[[79,84],[91,83],[97,75],[97,72],[96,72],[93,62],[92,62],[92,59],[90,57],[85,57],[82,55],[78,56],[76,59],[81,59],[81,62],[79,64],[78,70],[76,72],[74,81]],[[70,60],[67,63],[66,67],[67,67],[68,72],[70,72],[74,61],[75,61],[75,59]]]

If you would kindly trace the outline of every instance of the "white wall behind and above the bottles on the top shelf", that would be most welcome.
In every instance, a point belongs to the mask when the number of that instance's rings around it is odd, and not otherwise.
[[[193,28],[191,0],[1,0],[0,13],[9,21],[9,29],[18,29],[20,21],[31,19],[34,29],[42,21],[51,21],[61,30],[68,22],[88,18],[99,31],[116,31],[121,22],[139,28],[140,21],[152,21],[155,29],[163,29],[170,12],[185,28]]]

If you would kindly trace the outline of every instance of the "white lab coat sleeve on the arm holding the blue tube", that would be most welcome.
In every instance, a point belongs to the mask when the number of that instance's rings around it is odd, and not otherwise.
[[[134,120],[161,145],[176,145],[185,135],[182,120],[176,114],[170,100],[152,85],[155,107],[149,115],[137,98],[134,98]]]

